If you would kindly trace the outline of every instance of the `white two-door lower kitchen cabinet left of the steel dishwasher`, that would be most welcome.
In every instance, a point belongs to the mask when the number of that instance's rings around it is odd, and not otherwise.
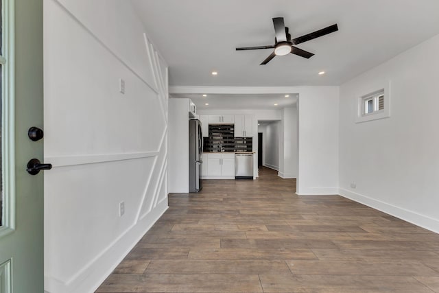
[[[204,162],[207,162],[204,164]],[[202,178],[235,179],[235,154],[204,153]]]

